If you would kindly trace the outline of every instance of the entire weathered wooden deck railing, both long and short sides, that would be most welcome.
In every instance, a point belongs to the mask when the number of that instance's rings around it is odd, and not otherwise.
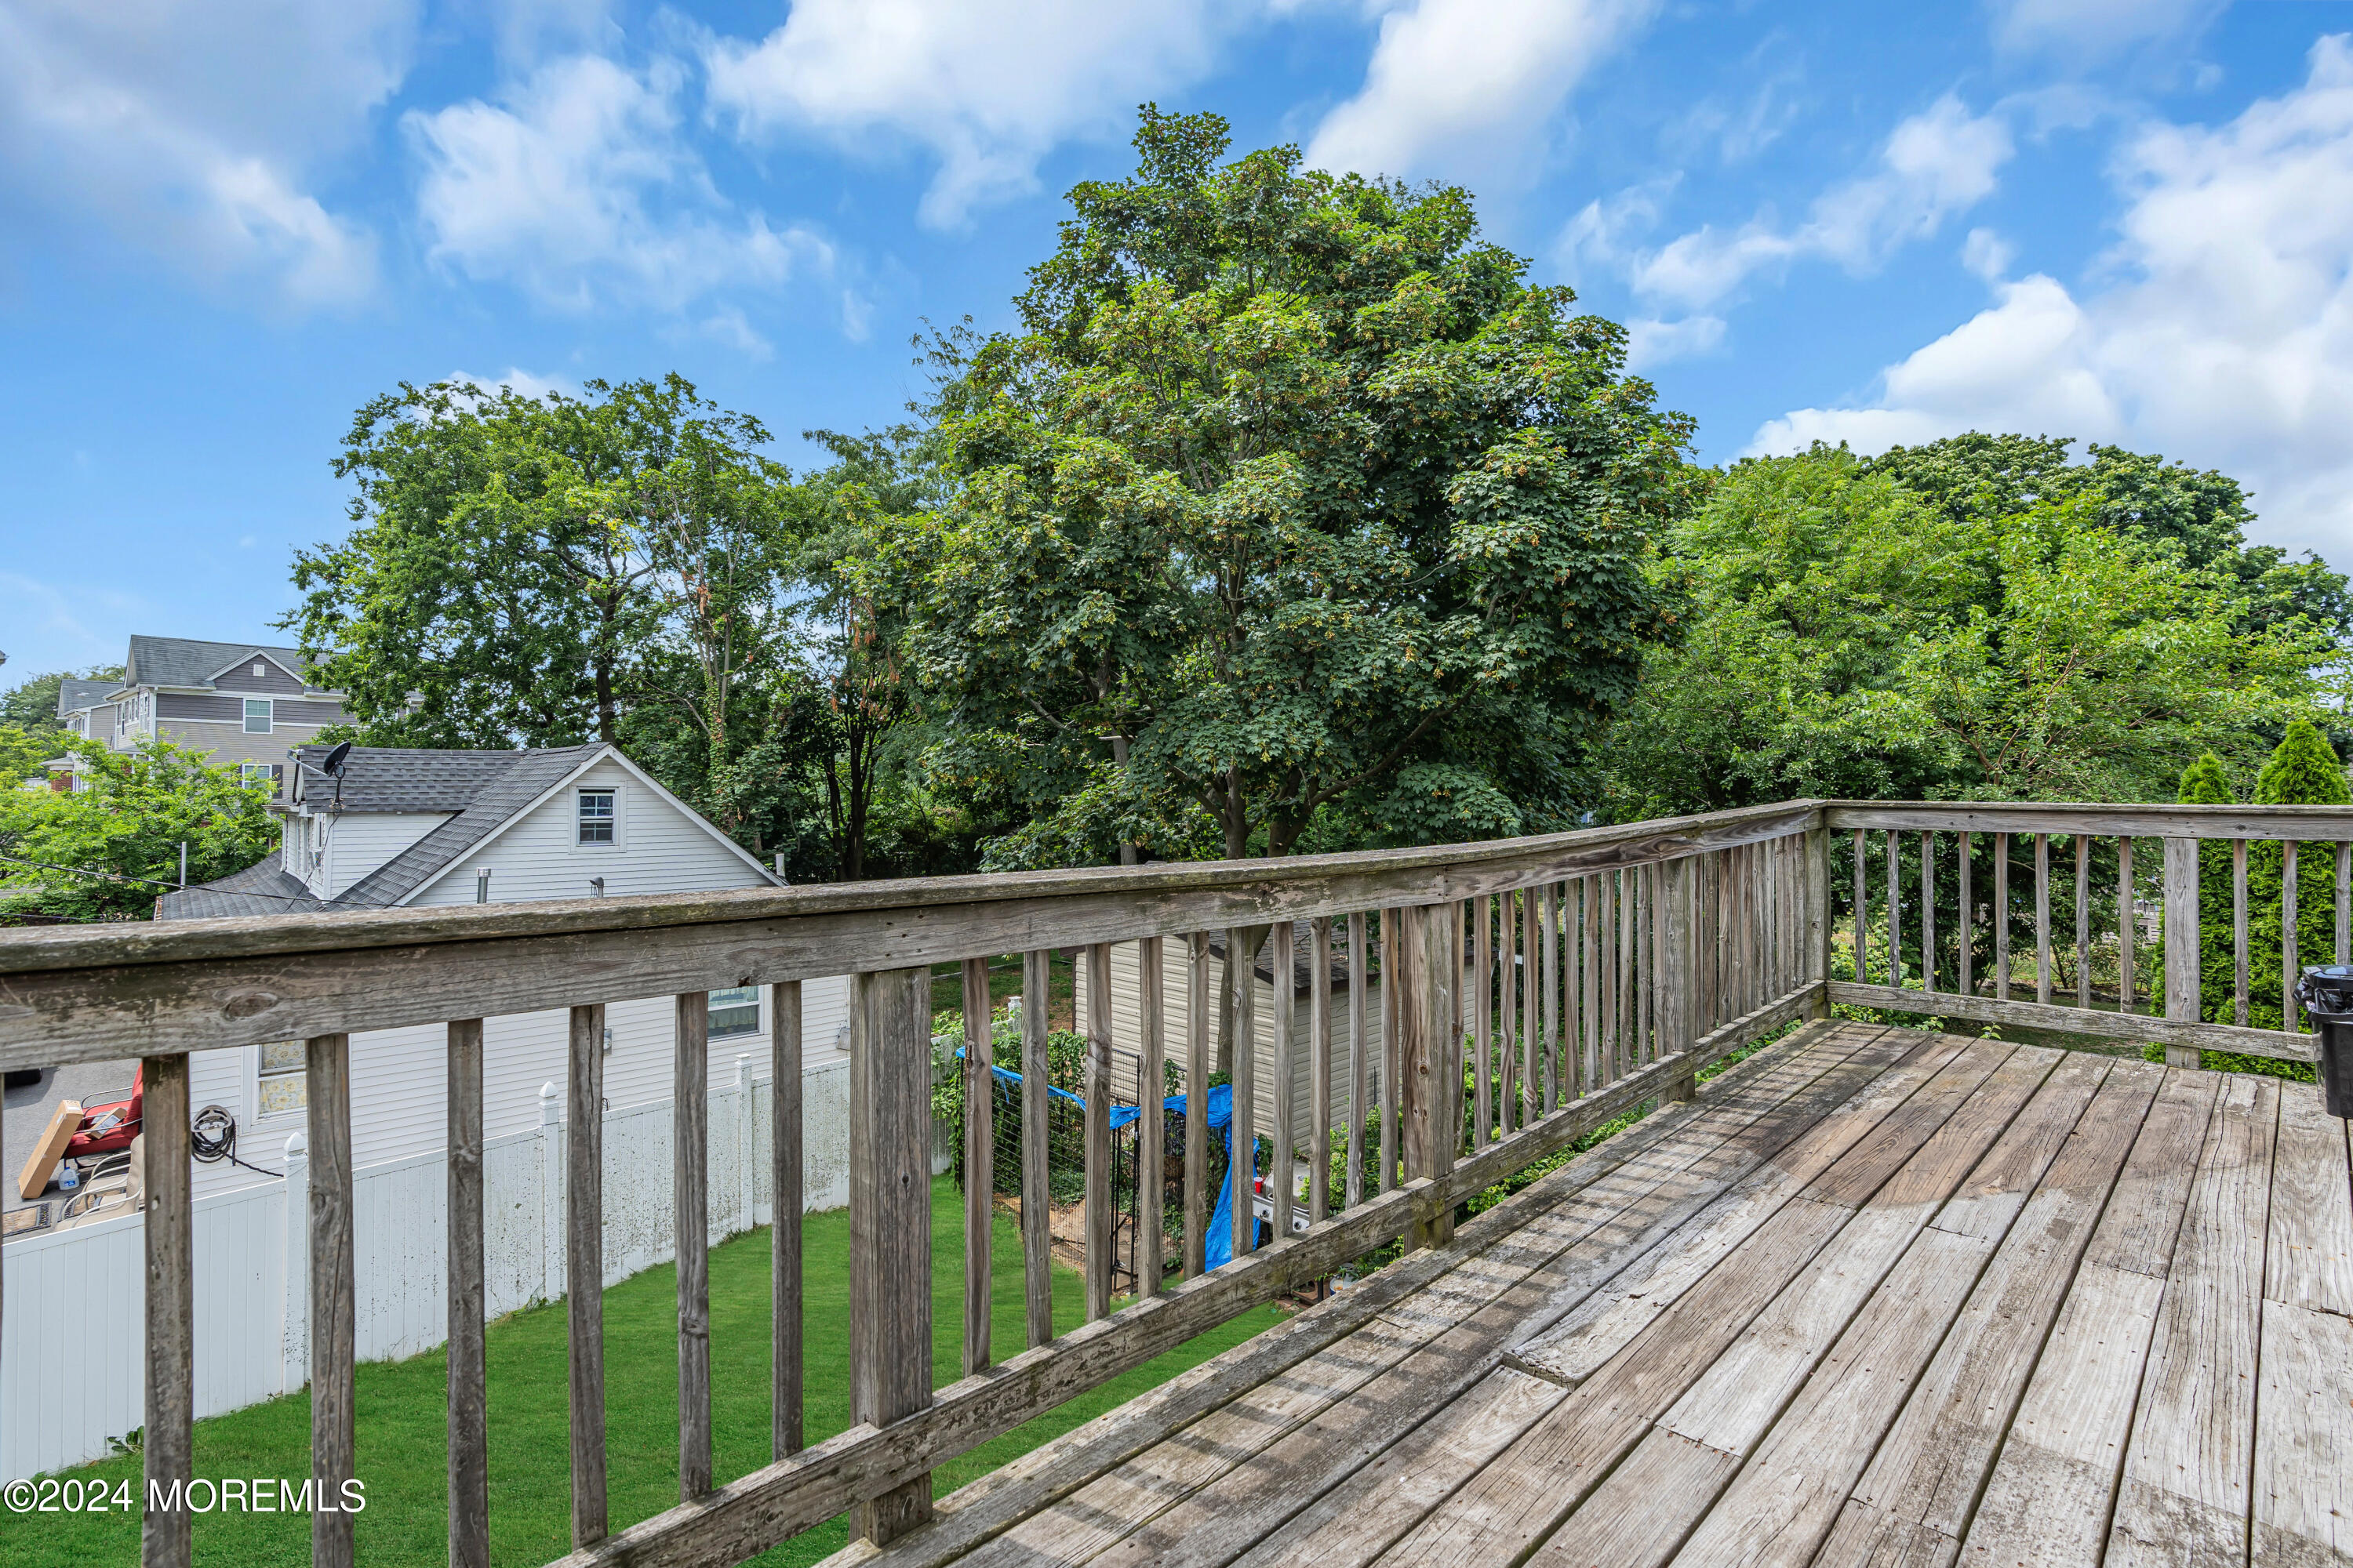
[[[2031,1023],[2113,1037],[2113,1013],[2059,1006],[2047,983],[2052,922],[2033,924],[2038,1001],[2009,997],[2014,907],[2007,846],[2031,835],[2038,865],[2057,837],[2085,846],[2122,835],[2165,837],[2169,931],[2195,922],[2195,839],[2285,837],[2353,842],[2353,811],[2332,809],[2094,809],[1906,806],[1791,802],[1697,818],[1595,827],[1386,853],[1297,860],[1099,867],[1019,877],[944,877],[722,896],[468,905],[292,914],[151,926],[45,929],[0,936],[0,1065],[146,1058],[146,1474],[169,1497],[191,1474],[193,1265],[188,1253],[188,1053],[273,1039],[308,1041],[311,1121],[311,1425],[313,1481],[336,1497],[353,1474],[353,1218],[351,1034],[447,1023],[449,1037],[449,1561],[489,1561],[487,1415],[482,1389],[482,1018],[569,1009],[567,1293],[572,1540],[565,1563],[736,1563],[845,1509],[873,1540],[932,1512],[932,1472],[1104,1380],[1280,1293],[1329,1276],[1391,1241],[1452,1234],[1459,1204],[1541,1161],[1647,1100],[1689,1098],[1697,1072],[1774,1027],[1821,1016],[1831,1001]],[[1885,835],[1899,898],[1873,903],[1868,856],[1854,860],[1854,900],[1833,889],[1833,863],[1864,835]],[[1899,844],[1915,835],[1918,846]],[[1965,835],[1965,837],[1953,837]],[[1993,886],[1972,879],[1977,839],[1993,835]],[[1951,839],[1951,844],[1948,844]],[[1939,924],[1937,867],[1946,846],[1958,898]],[[2089,856],[2089,849],[2080,849]],[[2339,851],[2341,853],[2341,851]],[[1901,900],[1904,867],[1925,860],[1929,898]],[[2092,860],[2080,860],[2089,865]],[[1962,870],[1972,867],[1972,870]],[[2129,884],[2129,875],[2127,875]],[[1915,877],[1913,886],[1922,886]],[[2049,875],[2033,879],[2047,900]],[[2339,889],[2344,860],[2339,858]],[[2191,889],[2184,905],[2184,889]],[[2040,905],[2038,905],[2040,907]],[[2089,907],[2089,905],[2085,905]],[[2134,907],[2127,898],[2127,910]],[[1852,917],[1859,969],[1833,980],[1833,947]],[[2078,919],[2078,950],[2089,929]],[[1292,1084],[1306,1048],[1308,1126],[1289,1093],[1259,1105],[1257,985],[1221,959],[1273,929],[1306,926],[1306,1027],[1292,1027],[1294,987],[1273,985],[1271,1081]],[[1875,943],[1885,924],[1885,943]],[[2129,922],[2127,922],[2129,924]],[[1972,940],[1958,940],[1969,933]],[[1988,985],[1974,940],[2000,959]],[[1918,938],[1918,945],[1913,940]],[[1167,1039],[1162,943],[1181,943],[1188,1009]],[[1233,1041],[1233,1260],[1205,1269],[1214,1194],[1209,1131],[1184,1128],[1184,1222],[1165,1262],[1162,1232],[1139,1239],[1136,1295],[1111,1293],[1111,947],[1139,943],[1144,1084],[1181,1051],[1188,1088],[1212,1077],[1224,1009]],[[2339,891],[2337,945],[2346,943]],[[2127,999],[2137,997],[2125,933]],[[1047,1232],[1047,992],[1054,950],[1089,966],[1085,1063],[1085,1314],[1054,1335]],[[1946,952],[1958,957],[1946,957]],[[988,959],[1024,954],[1021,1009],[1021,1253],[1028,1345],[991,1342],[995,1187]],[[1334,964],[1334,952],[1346,964]],[[1887,954],[1927,961],[1887,971]],[[2308,1053],[2287,1032],[2198,1023],[2195,940],[2186,978],[2167,945],[2165,1018],[2129,1030],[2174,1046],[2219,1044]],[[1901,959],[1899,959],[1901,961]],[[932,966],[960,964],[965,994],[965,1314],[962,1378],[934,1389],[932,1368]],[[1878,969],[1873,969],[1873,964]],[[800,1298],[800,985],[849,971],[852,983],[852,1425],[805,1446]],[[1289,966],[1273,964],[1278,976]],[[2082,969],[2078,969],[2082,973]],[[1904,985],[1927,980],[1934,994]],[[1951,990],[1946,980],[1951,978]],[[1379,980],[1379,985],[1372,985]],[[1887,983],[1880,983],[1887,980]],[[711,1345],[706,1269],[704,1037],[711,990],[774,985],[774,1300],[772,1462],[720,1483],[711,1465],[711,1375],[739,1347]],[[2078,983],[2082,985],[2082,983]],[[1988,994],[1991,992],[1991,994]],[[675,1220],[680,1502],[612,1528],[605,1493],[602,1302],[602,1011],[645,994],[678,997]],[[1377,1001],[1374,1001],[1377,999]],[[1377,1103],[1369,1100],[1369,1009],[1381,1009]],[[1294,1044],[1294,1034],[1304,1044]],[[1198,1107],[1205,1095],[1191,1095]],[[1334,1119],[1339,1126],[1334,1126]],[[1332,1192],[1334,1145],[1346,1150]],[[1247,1157],[1245,1157],[1247,1154]],[[1254,1246],[1252,1187],[1292,1185],[1304,1154],[1304,1234]],[[1365,1164],[1374,1168],[1365,1180]],[[1158,1138],[1139,1147],[1141,1192],[1158,1194]],[[1278,1199],[1280,1204],[1280,1199]],[[1141,1206],[1151,1213],[1151,1199]],[[1280,1206],[1278,1206],[1280,1213]],[[5,1368],[0,1368],[5,1375]],[[188,1563],[186,1509],[151,1507],[144,1561]],[[351,1516],[313,1514],[313,1561],[351,1561]]]

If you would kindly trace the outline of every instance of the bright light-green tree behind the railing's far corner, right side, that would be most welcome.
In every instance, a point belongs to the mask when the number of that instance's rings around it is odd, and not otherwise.
[[[1793,795],[2167,799],[2252,771],[2334,639],[2097,496],[1941,505],[1845,449],[1737,463],[1673,534],[1689,592],[1609,745],[1624,816]]]

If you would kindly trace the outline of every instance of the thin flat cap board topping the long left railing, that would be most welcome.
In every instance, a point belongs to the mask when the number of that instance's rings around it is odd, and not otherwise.
[[[407,947],[414,943],[478,943],[518,936],[591,936],[652,931],[664,926],[711,926],[772,922],[807,914],[889,914],[896,910],[946,910],[1007,900],[1078,898],[1122,893],[1165,898],[1181,893],[1261,893],[1313,889],[1315,884],[1362,886],[1372,898],[1414,896],[1433,875],[1497,872],[1541,875],[1548,860],[1579,851],[1617,851],[1609,865],[1666,860],[1718,842],[1777,837],[1805,823],[1819,799],[1774,802],[1701,816],[1652,818],[1612,827],[1471,844],[1424,844],[1414,849],[1365,849],[1334,856],[1287,856],[1278,860],[1172,860],[1155,865],[1087,865],[1045,872],[986,872],[965,877],[899,877],[880,882],[828,882],[786,889],[739,889],[722,893],[635,893],[624,898],[546,898],[532,903],[440,905],[393,910],[336,910],[306,914],[238,914],[219,919],[120,922],[99,926],[28,926],[0,931],[0,973],[42,969],[94,969],[113,964],[181,964],[191,959],[264,957],[294,952],[341,952],[353,947]],[[1741,835],[1744,827],[1767,827]],[[1678,839],[1689,839],[1678,842]],[[1595,860],[1595,867],[1600,860]],[[1577,865],[1577,870],[1588,870]],[[1435,886],[1435,884],[1431,884]],[[1438,900],[1452,896],[1438,886]],[[1471,893],[1464,893],[1471,896]]]

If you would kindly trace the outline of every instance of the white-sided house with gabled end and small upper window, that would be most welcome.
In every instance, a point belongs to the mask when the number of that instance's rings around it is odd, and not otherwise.
[[[165,893],[155,917],[701,893],[779,882],[614,745],[353,748],[339,776],[322,771],[329,752],[325,745],[289,752],[287,788],[275,802],[278,853],[219,882]],[[736,1053],[755,1056],[765,1070],[769,992],[711,994],[713,1081],[727,1077]],[[605,1009],[607,1112],[671,1098],[673,1016],[668,997]],[[482,1023],[485,1138],[539,1124],[541,1088],[565,1079],[567,1030],[562,1011]],[[847,1060],[847,978],[802,983],[805,1065],[816,1072]],[[447,1032],[431,1025],[353,1034],[353,1164],[442,1147],[445,1053]],[[188,1079],[193,1107],[219,1105],[235,1117],[238,1159],[275,1171],[287,1135],[306,1124],[304,1044],[200,1051]],[[198,1166],[195,1192],[261,1180],[268,1178],[224,1159]]]

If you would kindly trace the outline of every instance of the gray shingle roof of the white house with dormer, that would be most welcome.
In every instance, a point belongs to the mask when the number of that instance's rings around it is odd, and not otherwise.
[[[329,750],[299,745],[294,755],[315,769]],[[329,900],[308,898],[301,879],[271,856],[219,882],[165,893],[155,919],[395,905],[605,750],[602,741],[525,752],[358,745],[344,764],[344,811],[447,811],[449,818]],[[322,804],[332,792],[332,778],[304,776],[306,804]],[[289,903],[292,896],[301,900]]]

